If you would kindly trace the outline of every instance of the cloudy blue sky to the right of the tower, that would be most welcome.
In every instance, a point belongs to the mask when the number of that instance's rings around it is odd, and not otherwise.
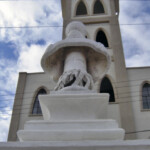
[[[121,26],[126,65],[128,67],[150,66],[149,26],[130,25],[149,23],[150,14],[147,8],[150,7],[150,4],[122,1],[120,6],[120,23],[129,24]]]

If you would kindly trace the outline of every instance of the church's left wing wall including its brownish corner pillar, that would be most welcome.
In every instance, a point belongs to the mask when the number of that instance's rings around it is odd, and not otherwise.
[[[48,94],[55,87],[54,81],[47,74],[20,73],[8,141],[17,140],[16,132],[24,128],[26,121],[43,119],[41,115],[32,114],[36,94],[42,87]]]

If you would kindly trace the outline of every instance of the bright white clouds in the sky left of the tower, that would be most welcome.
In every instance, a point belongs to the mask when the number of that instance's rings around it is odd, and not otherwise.
[[[16,1],[0,2],[0,26],[42,26],[62,25],[60,0],[51,1]],[[17,60],[1,56],[0,61],[0,94],[14,93],[18,72],[39,72],[40,59],[48,44],[61,39],[62,28],[10,28],[0,30],[1,42],[13,42]],[[44,44],[40,45],[39,40]],[[0,141],[6,141],[10,122],[8,108],[13,96],[0,96],[1,105],[7,110],[0,110]],[[6,101],[10,99],[10,101]],[[11,112],[9,112],[10,114]]]

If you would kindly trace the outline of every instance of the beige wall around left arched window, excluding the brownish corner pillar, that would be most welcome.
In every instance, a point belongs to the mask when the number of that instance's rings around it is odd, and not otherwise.
[[[24,89],[23,103],[21,107],[19,129],[24,128],[24,124],[28,120],[43,119],[42,116],[32,115],[33,103],[39,88],[44,87],[48,93],[53,89],[55,83],[45,73],[27,74],[26,86]]]

